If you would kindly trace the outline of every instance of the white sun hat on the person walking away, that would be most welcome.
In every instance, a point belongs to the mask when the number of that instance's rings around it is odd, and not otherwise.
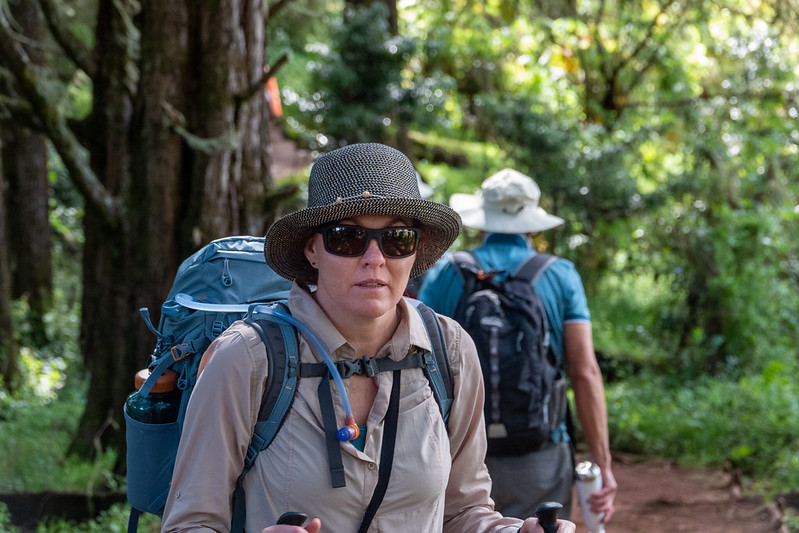
[[[540,199],[531,177],[506,168],[486,178],[476,194],[453,194],[449,205],[464,226],[489,233],[537,233],[563,224],[539,207]]]

